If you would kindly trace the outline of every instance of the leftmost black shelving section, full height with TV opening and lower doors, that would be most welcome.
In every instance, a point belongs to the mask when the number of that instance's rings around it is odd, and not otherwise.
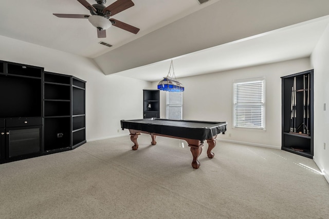
[[[42,67],[0,61],[0,163],[41,154],[42,80]]]

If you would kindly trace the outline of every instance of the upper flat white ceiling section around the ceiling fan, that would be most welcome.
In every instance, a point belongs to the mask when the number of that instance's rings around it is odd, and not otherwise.
[[[116,0],[107,0],[105,6]],[[197,0],[132,0],[135,6],[113,18],[140,29],[133,34],[117,27],[106,30],[106,38],[97,38],[97,30],[88,19],[59,18],[60,14],[90,14],[76,0],[6,0],[0,3],[0,35],[32,44],[94,58],[165,26],[207,5]],[[91,5],[95,0],[87,0]],[[112,48],[98,44],[104,41]]]

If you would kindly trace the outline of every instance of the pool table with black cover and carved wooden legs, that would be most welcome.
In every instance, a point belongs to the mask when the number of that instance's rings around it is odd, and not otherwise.
[[[197,158],[202,152],[204,141],[207,140],[209,158],[214,157],[211,151],[216,145],[217,134],[225,134],[227,122],[166,120],[161,118],[143,118],[140,120],[121,120],[121,128],[129,129],[130,139],[134,143],[133,150],[138,149],[137,138],[140,133],[151,135],[152,145],[156,144],[155,137],[165,136],[187,141],[193,156],[192,167],[198,169]]]

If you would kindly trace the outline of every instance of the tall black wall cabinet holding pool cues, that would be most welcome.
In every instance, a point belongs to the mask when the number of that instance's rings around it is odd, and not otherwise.
[[[313,158],[313,70],[281,77],[281,149]]]

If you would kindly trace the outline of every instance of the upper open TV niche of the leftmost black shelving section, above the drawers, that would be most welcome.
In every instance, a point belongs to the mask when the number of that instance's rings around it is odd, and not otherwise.
[[[43,68],[0,63],[0,117],[42,117]]]

